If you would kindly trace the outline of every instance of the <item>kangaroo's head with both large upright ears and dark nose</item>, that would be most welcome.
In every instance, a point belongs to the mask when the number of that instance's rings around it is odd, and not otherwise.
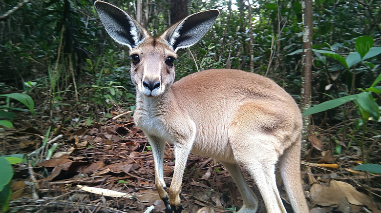
[[[153,38],[135,19],[104,1],[95,8],[107,33],[120,44],[127,45],[132,58],[131,79],[136,92],[147,97],[159,96],[174,81],[176,52],[195,44],[212,26],[218,10],[192,14]]]

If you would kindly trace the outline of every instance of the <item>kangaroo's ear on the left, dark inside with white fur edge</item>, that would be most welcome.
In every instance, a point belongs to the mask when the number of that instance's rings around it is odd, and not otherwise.
[[[148,37],[143,26],[123,10],[100,0],[94,4],[107,33],[118,43],[127,45],[131,50]]]

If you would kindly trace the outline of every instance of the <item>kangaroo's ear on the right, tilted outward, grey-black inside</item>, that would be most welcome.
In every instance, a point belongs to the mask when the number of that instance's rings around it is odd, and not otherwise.
[[[208,32],[219,13],[218,10],[206,10],[192,14],[171,26],[161,37],[175,52],[190,47]]]

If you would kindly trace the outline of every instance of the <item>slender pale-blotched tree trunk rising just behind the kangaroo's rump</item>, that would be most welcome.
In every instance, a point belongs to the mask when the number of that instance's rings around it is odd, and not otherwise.
[[[302,1],[303,9],[303,74],[302,74],[302,111],[311,107],[311,70],[312,70],[312,0]],[[303,117],[303,147],[309,135],[310,116]]]

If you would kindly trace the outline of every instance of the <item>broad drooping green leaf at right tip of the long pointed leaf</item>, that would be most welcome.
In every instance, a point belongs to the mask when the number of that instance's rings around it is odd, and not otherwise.
[[[364,92],[357,95],[356,103],[360,107],[361,114],[366,113],[372,116],[374,119],[378,120],[380,118],[380,108],[377,102],[373,99],[370,92]],[[364,114],[364,115],[366,115]],[[363,116],[367,119],[367,116]]]

